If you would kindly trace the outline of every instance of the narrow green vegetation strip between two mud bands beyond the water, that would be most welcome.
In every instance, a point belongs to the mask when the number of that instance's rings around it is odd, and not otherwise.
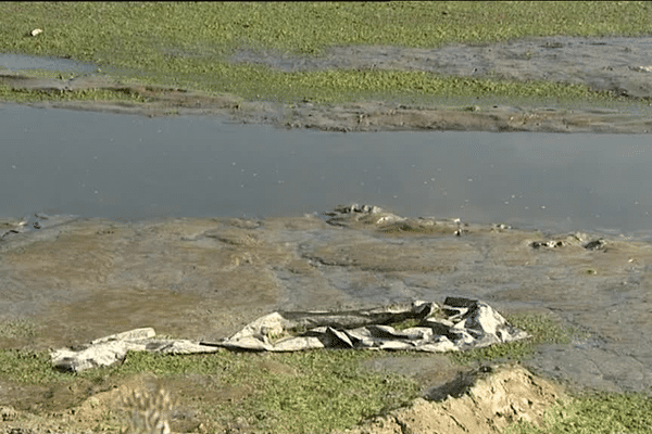
[[[493,79],[438,76],[425,72],[330,69],[283,73],[267,67],[230,66],[242,80],[229,80],[221,90],[246,99],[292,102],[343,103],[374,99],[413,99],[428,97],[478,98],[559,98],[562,100],[605,101],[606,92],[593,92],[587,86],[548,81],[515,82]],[[199,84],[197,84],[199,85]],[[209,89],[210,90],[210,89]],[[212,89],[216,90],[216,89]]]

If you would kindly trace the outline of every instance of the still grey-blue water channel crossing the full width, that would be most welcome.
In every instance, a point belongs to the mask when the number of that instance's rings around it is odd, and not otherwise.
[[[0,105],[0,218],[405,216],[644,235],[647,136],[336,133]]]

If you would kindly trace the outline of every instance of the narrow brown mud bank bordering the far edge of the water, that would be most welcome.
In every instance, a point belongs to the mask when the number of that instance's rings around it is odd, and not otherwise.
[[[511,105],[424,106],[368,101],[350,104],[280,104],[242,101],[233,95],[124,85],[109,78],[59,80],[0,76],[0,82],[14,88],[65,92],[82,89],[108,89],[138,93],[147,102],[59,101],[30,105],[111,112],[143,116],[210,115],[244,124],[272,124],[281,128],[311,128],[325,131],[531,131],[531,132],[611,132],[652,131],[647,115],[595,108],[526,107]]]

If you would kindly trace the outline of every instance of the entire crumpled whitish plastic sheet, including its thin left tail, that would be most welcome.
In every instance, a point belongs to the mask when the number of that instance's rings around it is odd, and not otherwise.
[[[410,321],[409,328],[390,324]],[[523,340],[528,334],[510,324],[488,304],[447,297],[443,305],[413,302],[349,311],[273,312],[218,342],[155,339],[151,328],[92,341],[78,349],[51,353],[55,368],[80,372],[110,366],[129,350],[166,354],[235,350],[296,352],[314,348],[371,348],[443,353]]]

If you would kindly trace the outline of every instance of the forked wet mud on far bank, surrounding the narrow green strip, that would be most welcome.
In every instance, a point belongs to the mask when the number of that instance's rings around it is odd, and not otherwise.
[[[37,106],[66,107],[147,116],[214,115],[238,123],[273,124],[283,128],[329,131],[476,130],[538,132],[652,131],[652,117],[644,110],[652,97],[651,38],[537,38],[491,46],[449,46],[441,49],[398,47],[346,47],[329,49],[319,58],[298,58],[271,51],[237,51],[233,63],[262,64],[280,71],[327,68],[424,71],[438,75],[497,78],[516,81],[548,80],[587,85],[625,100],[631,107],[582,103],[572,108],[550,103],[487,103],[443,101],[418,105],[391,101],[350,104],[293,104],[242,101],[234,95],[204,94],[188,89],[121,84],[110,76],[79,76],[50,80],[11,72],[0,74],[0,84],[14,88],[67,92],[111,89],[138,93],[143,103],[60,101]]]

